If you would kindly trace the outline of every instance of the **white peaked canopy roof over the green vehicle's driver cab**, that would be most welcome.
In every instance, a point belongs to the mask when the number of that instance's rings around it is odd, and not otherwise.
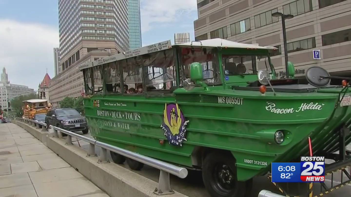
[[[245,44],[245,43],[239,43],[239,42],[234,42],[230,40],[224,40],[220,38],[180,43],[180,44],[177,44],[177,46],[278,49],[276,47],[263,47],[263,46],[258,46],[258,44],[257,45]]]

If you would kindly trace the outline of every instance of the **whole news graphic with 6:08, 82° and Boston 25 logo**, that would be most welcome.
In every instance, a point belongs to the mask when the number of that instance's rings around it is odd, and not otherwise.
[[[324,157],[301,157],[300,163],[272,163],[272,182],[324,182]]]

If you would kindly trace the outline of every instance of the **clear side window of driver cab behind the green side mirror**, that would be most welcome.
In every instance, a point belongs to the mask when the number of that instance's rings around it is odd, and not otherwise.
[[[207,85],[221,84],[219,63],[216,49],[211,48],[180,48],[180,76],[182,81],[190,78],[190,65],[199,62],[202,65],[203,79]],[[181,86],[181,84],[180,84]]]

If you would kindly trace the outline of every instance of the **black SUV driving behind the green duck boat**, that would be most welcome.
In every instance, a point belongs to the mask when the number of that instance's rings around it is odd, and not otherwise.
[[[45,123],[47,129],[49,125],[53,125],[67,131],[82,131],[83,134],[89,132],[86,118],[72,108],[60,108],[48,111]],[[66,136],[66,134],[62,134],[62,136]]]

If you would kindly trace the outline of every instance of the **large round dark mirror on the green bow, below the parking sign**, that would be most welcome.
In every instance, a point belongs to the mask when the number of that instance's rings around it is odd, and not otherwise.
[[[318,88],[323,88],[330,83],[329,73],[324,68],[317,66],[311,67],[306,71],[306,79],[312,86]]]

